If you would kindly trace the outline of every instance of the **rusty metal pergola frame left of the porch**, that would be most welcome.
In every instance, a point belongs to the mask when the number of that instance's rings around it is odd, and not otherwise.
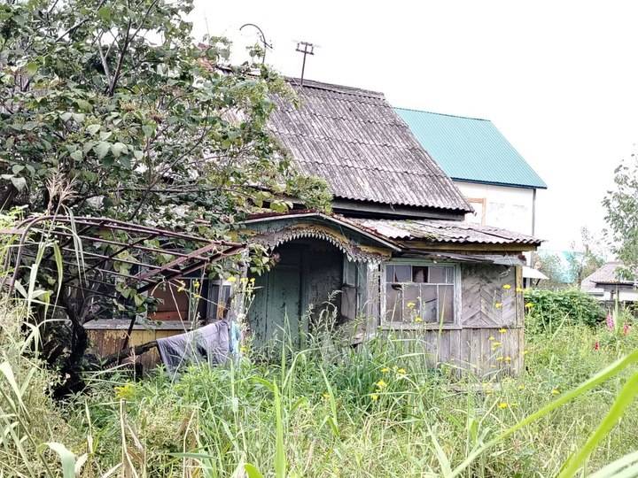
[[[55,251],[44,253],[40,268],[57,271],[61,256],[64,287],[77,289],[81,297],[96,295],[112,299],[124,298],[118,297],[114,289],[118,281],[123,280],[126,286],[141,294],[161,283],[187,277],[245,249],[243,243],[211,240],[110,218],[70,215],[31,217],[17,227],[0,230],[0,235],[19,237],[5,255],[4,270],[9,271],[13,266],[13,272],[0,281],[0,289],[12,293],[22,267],[33,264],[40,244],[47,241],[57,244],[59,255],[56,258]],[[160,248],[157,244],[147,243],[156,239]],[[125,253],[126,257],[121,257]],[[161,260],[153,260],[160,257]],[[118,272],[118,263],[136,266],[137,271],[131,274]],[[134,315],[122,350],[128,346],[135,321]]]

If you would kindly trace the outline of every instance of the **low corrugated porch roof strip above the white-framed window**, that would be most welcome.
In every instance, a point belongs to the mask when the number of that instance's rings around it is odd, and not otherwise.
[[[348,219],[389,239],[421,240],[432,243],[540,245],[531,235],[499,227],[481,226],[455,220],[369,220]]]

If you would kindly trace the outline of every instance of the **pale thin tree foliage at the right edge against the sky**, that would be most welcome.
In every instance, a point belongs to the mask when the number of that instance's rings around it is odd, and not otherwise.
[[[603,200],[613,252],[625,265],[619,279],[638,276],[638,158],[635,154],[614,171],[615,189]]]

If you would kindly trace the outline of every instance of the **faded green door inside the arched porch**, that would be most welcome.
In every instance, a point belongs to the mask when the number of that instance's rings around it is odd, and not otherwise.
[[[280,261],[268,273],[255,277],[255,297],[248,312],[253,343],[273,339],[298,344],[300,340],[300,249],[281,251]]]

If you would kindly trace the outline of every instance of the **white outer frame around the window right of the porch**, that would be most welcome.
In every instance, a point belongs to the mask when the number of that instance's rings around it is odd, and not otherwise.
[[[438,320],[436,322],[399,322],[399,321],[391,321],[386,320],[386,300],[387,300],[387,284],[394,283],[387,281],[387,266],[431,266],[431,267],[453,267],[454,268],[454,280],[452,281],[453,290],[454,290],[454,315],[453,320],[451,322],[440,323]],[[401,282],[403,283],[403,282]],[[406,282],[407,283],[407,282]],[[420,283],[420,282],[413,282]],[[461,310],[462,310],[462,300],[461,300],[461,266],[455,262],[434,262],[432,260],[426,259],[418,259],[418,258],[393,258],[387,262],[384,262],[381,265],[381,317],[379,318],[379,322],[381,328],[388,329],[460,329],[461,328]],[[437,297],[438,300],[438,297]]]

